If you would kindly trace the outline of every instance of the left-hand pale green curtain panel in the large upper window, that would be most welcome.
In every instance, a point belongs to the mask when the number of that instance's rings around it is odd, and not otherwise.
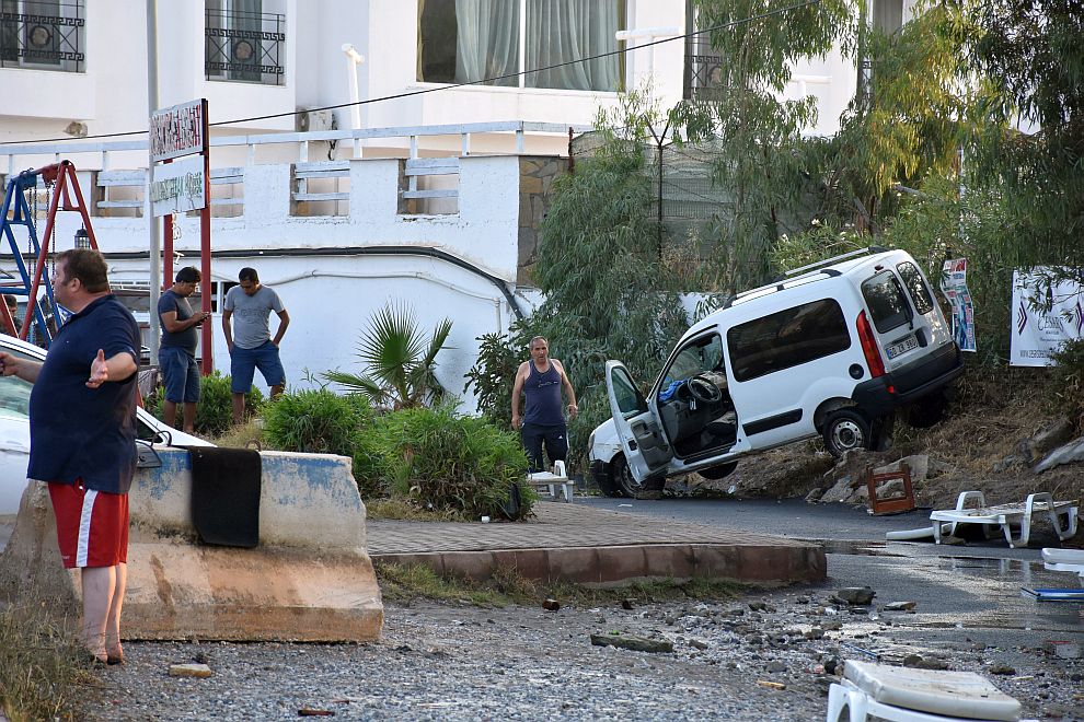
[[[519,0],[455,0],[455,81],[509,75],[519,70]],[[519,85],[519,79],[493,85]]]

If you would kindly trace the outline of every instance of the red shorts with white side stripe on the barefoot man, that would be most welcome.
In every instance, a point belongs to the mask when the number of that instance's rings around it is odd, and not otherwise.
[[[128,494],[49,481],[57,544],[65,569],[115,567],[128,561]]]

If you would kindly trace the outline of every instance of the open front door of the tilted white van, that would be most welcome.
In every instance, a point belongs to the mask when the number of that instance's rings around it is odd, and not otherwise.
[[[673,452],[662,436],[647,399],[620,361],[606,362],[606,387],[610,395],[613,426],[633,478],[643,484],[645,479],[666,474]]]

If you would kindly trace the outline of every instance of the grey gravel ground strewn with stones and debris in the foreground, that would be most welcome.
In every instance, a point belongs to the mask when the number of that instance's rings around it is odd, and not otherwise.
[[[808,721],[823,719],[841,661],[876,653],[979,672],[1028,717],[1084,719],[1084,660],[931,634],[915,610],[850,606],[832,601],[835,591],[556,612],[388,604],[383,634],[369,644],[129,642],[127,664],[97,673],[84,709],[111,720]],[[674,651],[590,642],[614,632],[668,640]],[[212,676],[169,676],[171,664],[191,662]]]

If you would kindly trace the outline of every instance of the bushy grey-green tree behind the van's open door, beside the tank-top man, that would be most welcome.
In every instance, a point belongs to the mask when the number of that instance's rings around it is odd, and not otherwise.
[[[576,387],[580,412],[569,426],[585,451],[586,432],[610,416],[603,383],[607,359],[620,359],[642,382],[653,380],[688,327],[677,280],[660,256],[645,173],[651,128],[662,114],[643,93],[630,93],[596,120],[599,147],[558,177],[539,229],[532,276],[545,294],[516,341],[541,334]]]

